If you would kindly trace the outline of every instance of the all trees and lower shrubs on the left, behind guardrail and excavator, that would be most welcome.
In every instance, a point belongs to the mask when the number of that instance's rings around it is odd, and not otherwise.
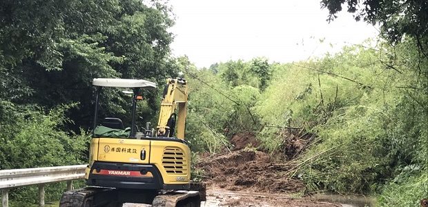
[[[92,79],[163,83],[175,75],[172,25],[161,1],[1,1],[0,169],[86,163]],[[102,97],[101,117],[109,111],[129,121],[130,97],[119,90]],[[157,92],[144,97],[139,116],[155,123]],[[35,198],[35,189],[11,199]],[[64,184],[48,190],[47,199],[58,199]]]

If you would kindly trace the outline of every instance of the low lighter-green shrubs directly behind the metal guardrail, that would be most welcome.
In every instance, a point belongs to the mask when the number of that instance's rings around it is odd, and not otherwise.
[[[64,124],[70,119],[64,112],[77,104],[57,106],[46,114],[39,106],[19,106],[10,101],[0,103],[0,168],[34,168],[67,166],[86,162],[89,137],[86,132],[68,133]],[[65,184],[52,184],[46,200],[58,199]],[[17,206],[37,202],[37,187],[13,189]]]

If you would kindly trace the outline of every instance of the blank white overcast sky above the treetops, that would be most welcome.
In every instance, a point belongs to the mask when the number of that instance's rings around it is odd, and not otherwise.
[[[187,55],[198,67],[253,57],[282,63],[304,60],[378,34],[347,12],[328,23],[328,11],[320,9],[320,0],[174,0],[170,4],[176,15],[171,28],[173,55]]]

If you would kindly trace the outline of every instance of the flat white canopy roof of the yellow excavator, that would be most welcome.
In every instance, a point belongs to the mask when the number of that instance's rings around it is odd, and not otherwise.
[[[143,79],[94,79],[94,86],[119,88],[156,88],[156,83]]]

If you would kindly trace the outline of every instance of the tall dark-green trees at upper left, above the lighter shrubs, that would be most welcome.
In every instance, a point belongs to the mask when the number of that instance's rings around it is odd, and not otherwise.
[[[93,78],[163,82],[177,69],[166,31],[173,21],[157,1],[1,1],[0,10],[1,99],[46,109],[79,102],[67,113],[72,130],[90,126]],[[116,92],[104,97],[118,99],[102,105],[116,115],[128,107]]]

